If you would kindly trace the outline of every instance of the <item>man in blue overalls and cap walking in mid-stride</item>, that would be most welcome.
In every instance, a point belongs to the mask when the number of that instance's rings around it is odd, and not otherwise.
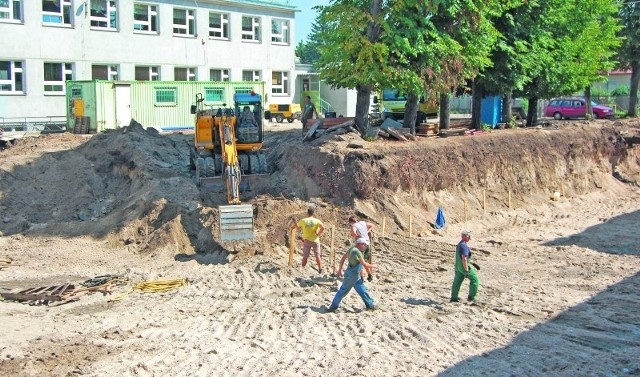
[[[331,302],[331,306],[329,307],[329,311],[333,312],[338,309],[340,306],[340,301],[349,293],[351,288],[354,288],[362,301],[364,301],[364,305],[368,310],[376,309],[376,305],[373,301],[373,298],[367,292],[367,287],[364,285],[364,280],[362,276],[360,276],[360,272],[364,268],[369,274],[373,271],[373,265],[365,262],[364,260],[364,249],[367,247],[367,240],[364,238],[358,238],[356,240],[356,246],[352,247],[347,251],[340,259],[340,267],[336,274],[339,276],[342,275],[342,267],[344,266],[344,262],[346,259],[349,260],[349,264],[347,269],[344,272],[344,281],[336,292],[335,297],[333,298],[333,302]]]

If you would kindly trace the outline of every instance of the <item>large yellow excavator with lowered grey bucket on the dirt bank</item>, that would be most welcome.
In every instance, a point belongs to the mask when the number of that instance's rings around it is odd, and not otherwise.
[[[251,189],[254,176],[268,173],[261,152],[264,139],[262,97],[236,93],[234,107],[204,109],[202,94],[191,106],[196,116],[195,139],[190,162],[199,186],[226,188],[228,205],[219,206],[220,240],[254,238],[253,206],[242,204],[240,192]]]

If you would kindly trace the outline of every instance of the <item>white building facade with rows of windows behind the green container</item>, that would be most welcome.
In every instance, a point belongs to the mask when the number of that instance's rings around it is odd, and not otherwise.
[[[271,0],[0,0],[0,121],[65,116],[66,80],[265,81],[297,102],[295,12]]]

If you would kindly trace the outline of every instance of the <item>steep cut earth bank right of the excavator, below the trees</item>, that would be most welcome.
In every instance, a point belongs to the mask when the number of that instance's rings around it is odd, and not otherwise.
[[[281,171],[291,188],[309,197],[355,205],[372,218],[396,219],[400,229],[411,213],[432,222],[438,207],[458,219],[489,209],[548,201],[558,191],[577,196],[602,188],[612,174],[640,183],[640,154],[629,143],[637,121],[557,122],[544,129],[500,130],[474,137],[378,141],[346,148],[344,136],[309,144],[283,144]],[[295,161],[297,163],[292,163]],[[368,211],[367,211],[368,209]]]

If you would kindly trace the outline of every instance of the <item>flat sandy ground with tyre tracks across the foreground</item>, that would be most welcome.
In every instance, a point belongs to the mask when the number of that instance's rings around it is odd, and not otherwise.
[[[560,202],[473,216],[478,305],[448,302],[453,245],[379,240],[380,310],[311,269],[257,255],[136,255],[89,237],[0,238],[0,287],[125,274],[187,277],[165,294],[100,294],[61,306],[0,303],[6,376],[640,375],[640,192],[613,180]],[[296,256],[299,263],[300,256]],[[320,284],[316,284],[320,283]],[[124,290],[123,288],[120,288]],[[466,293],[463,286],[461,295]]]

